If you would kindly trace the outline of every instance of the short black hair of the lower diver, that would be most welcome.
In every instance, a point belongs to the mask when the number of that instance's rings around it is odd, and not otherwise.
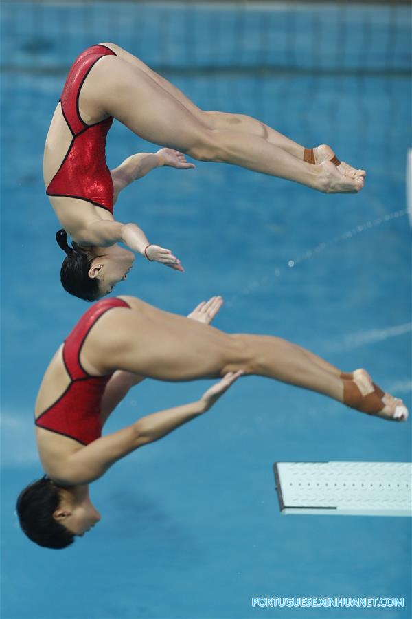
[[[20,492],[16,503],[20,526],[39,546],[60,549],[74,541],[74,534],[53,517],[60,498],[58,486],[47,475]]]

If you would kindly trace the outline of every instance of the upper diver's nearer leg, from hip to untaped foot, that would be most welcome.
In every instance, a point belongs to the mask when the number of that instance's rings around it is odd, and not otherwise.
[[[342,176],[329,161],[308,164],[258,135],[210,129],[148,74],[117,56],[104,56],[93,66],[80,102],[114,116],[144,140],[194,159],[236,164],[327,193],[356,193],[363,186],[363,179]]]

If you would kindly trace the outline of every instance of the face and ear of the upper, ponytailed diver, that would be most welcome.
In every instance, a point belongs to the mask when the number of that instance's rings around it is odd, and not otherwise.
[[[119,281],[126,279],[134,261],[135,254],[118,245],[98,251],[91,263],[89,276],[98,278],[100,297],[110,294]]]

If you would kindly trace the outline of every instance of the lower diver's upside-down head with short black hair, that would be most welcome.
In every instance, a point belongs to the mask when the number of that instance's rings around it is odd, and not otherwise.
[[[62,488],[46,475],[22,490],[16,511],[27,537],[47,548],[66,548],[100,521],[87,486]]]

